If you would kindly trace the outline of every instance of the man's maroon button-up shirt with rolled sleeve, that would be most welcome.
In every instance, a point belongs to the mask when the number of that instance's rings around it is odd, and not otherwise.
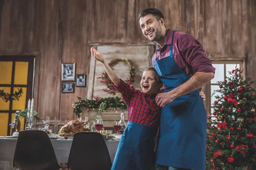
[[[172,30],[167,30],[167,37],[163,48],[157,45],[157,50],[152,57],[152,64],[157,59],[170,56],[170,45],[172,45],[172,53],[177,65],[192,77],[195,72],[215,73],[215,68],[212,67],[212,62],[207,58],[201,45],[195,37],[182,33],[175,32],[172,42]],[[154,64],[153,64],[154,65]]]

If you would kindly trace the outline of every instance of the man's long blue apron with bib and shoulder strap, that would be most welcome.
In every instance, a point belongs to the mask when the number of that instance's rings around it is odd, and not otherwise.
[[[172,34],[172,40],[174,32]],[[176,42],[172,42],[174,44]],[[164,92],[177,88],[190,77],[175,62],[170,45],[170,56],[154,61]],[[199,96],[200,89],[177,97],[166,104],[161,113],[156,151],[156,164],[194,170],[205,170],[207,114]]]

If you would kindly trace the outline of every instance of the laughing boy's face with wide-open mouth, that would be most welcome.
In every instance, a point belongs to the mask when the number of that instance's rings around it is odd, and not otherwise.
[[[160,88],[160,83],[157,79],[157,73],[152,70],[144,71],[141,77],[140,86],[145,94],[157,94]]]

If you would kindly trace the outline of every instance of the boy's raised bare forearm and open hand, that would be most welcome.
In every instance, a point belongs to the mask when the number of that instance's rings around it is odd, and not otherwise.
[[[115,85],[119,85],[120,79],[116,76],[115,72],[112,70],[112,68],[108,65],[108,63],[105,63],[105,59],[95,48],[91,48],[91,53],[93,55],[93,58],[102,62],[102,65],[105,68],[105,71],[107,72],[109,78]]]

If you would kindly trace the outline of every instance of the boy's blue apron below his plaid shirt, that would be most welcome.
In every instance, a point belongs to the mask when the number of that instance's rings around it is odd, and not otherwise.
[[[157,128],[128,122],[111,170],[151,170]]]

